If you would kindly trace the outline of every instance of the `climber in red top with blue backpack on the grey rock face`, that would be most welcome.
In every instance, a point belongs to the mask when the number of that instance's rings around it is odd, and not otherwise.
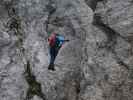
[[[65,38],[62,35],[56,34],[56,33],[52,33],[49,38],[48,38],[48,42],[49,42],[49,52],[50,52],[50,64],[48,66],[49,70],[54,71],[54,61],[55,58],[60,50],[60,48],[62,47],[62,45],[64,44],[64,42],[69,41],[69,40],[65,40]]]

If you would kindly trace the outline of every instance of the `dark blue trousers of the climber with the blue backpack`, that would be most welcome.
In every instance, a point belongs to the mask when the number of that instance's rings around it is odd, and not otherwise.
[[[51,65],[54,65],[54,61],[58,54],[59,49],[60,48],[56,46],[50,47],[50,64]]]

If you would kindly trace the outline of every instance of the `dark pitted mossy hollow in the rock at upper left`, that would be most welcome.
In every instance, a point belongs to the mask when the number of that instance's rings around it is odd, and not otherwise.
[[[13,32],[13,35],[18,38],[15,43],[15,46],[21,49],[25,39],[25,32],[22,28],[22,20],[20,16],[18,16],[17,11],[14,7],[10,7],[10,9],[8,10],[9,20],[7,21],[5,27],[8,29],[7,32]]]

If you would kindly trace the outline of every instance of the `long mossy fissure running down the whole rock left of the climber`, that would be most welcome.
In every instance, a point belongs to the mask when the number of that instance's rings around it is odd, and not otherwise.
[[[32,99],[34,95],[39,96],[43,100],[46,100],[45,95],[42,92],[41,83],[37,82],[35,75],[33,75],[33,73],[31,72],[30,61],[27,60],[26,58],[25,48],[23,47],[25,34],[21,26],[22,25],[21,19],[17,15],[16,9],[14,7],[10,6],[10,9],[8,10],[9,10],[8,15],[10,17],[10,19],[7,22],[8,32],[12,31],[14,35],[17,37],[17,40],[15,41],[14,45],[17,47],[17,49],[19,49],[18,56],[26,60],[26,64],[25,62],[22,61],[25,69],[24,71],[25,80],[29,85],[25,100]]]

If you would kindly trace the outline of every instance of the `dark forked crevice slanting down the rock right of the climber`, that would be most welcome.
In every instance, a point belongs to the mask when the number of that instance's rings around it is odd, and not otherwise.
[[[93,23],[94,26],[102,30],[105,35],[107,36],[107,41],[104,45],[99,45],[99,48],[106,48],[108,51],[114,54],[114,58],[116,59],[117,63],[121,66],[124,66],[127,70],[129,70],[129,66],[122,61],[117,53],[115,52],[114,48],[117,44],[117,37],[122,38],[126,42],[129,42],[125,37],[121,36],[120,33],[113,30],[109,25],[104,24],[101,20],[101,16],[99,14],[94,15]]]

